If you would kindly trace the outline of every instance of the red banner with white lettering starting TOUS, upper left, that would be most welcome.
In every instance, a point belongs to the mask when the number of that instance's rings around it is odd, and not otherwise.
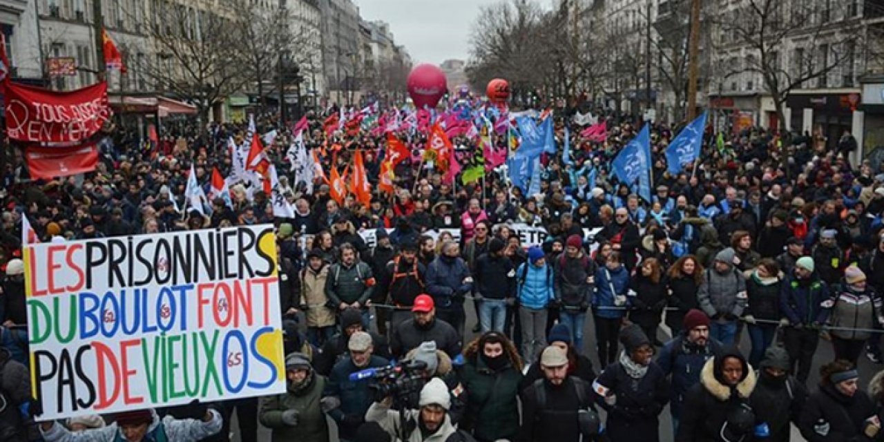
[[[6,84],[6,133],[11,140],[79,143],[108,118],[106,82],[70,92]]]

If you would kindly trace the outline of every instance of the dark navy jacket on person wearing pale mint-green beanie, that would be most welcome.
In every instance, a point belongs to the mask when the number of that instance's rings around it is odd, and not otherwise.
[[[825,302],[828,300],[828,286],[816,273],[811,278],[798,279],[793,271],[782,285],[780,308],[792,325],[825,324],[832,309],[832,302]]]

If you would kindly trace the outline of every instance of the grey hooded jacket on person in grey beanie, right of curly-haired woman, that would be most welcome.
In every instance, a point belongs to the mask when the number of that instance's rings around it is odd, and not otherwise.
[[[706,269],[703,284],[697,290],[697,301],[706,315],[719,315],[718,320],[725,322],[728,321],[725,315],[743,316],[749,298],[746,296],[743,275],[734,269],[734,249],[721,250],[715,255],[715,261],[728,263],[728,271],[719,273],[714,268]]]

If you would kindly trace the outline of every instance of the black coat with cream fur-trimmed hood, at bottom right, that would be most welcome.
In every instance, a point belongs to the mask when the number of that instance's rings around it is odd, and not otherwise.
[[[728,357],[735,357],[743,364],[743,378],[734,386],[724,383],[721,372]],[[700,382],[690,388],[684,400],[675,442],[724,442],[720,434],[728,415],[749,404],[756,382],[757,377],[749,362],[735,348],[706,361],[700,371]]]

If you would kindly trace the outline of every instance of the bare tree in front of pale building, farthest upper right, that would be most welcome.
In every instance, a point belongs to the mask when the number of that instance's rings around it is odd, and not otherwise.
[[[791,91],[828,87],[829,74],[853,64],[860,53],[861,19],[849,13],[851,3],[743,0],[738,9],[718,13],[717,52],[744,48],[740,57],[730,57],[722,65],[722,78],[760,77],[777,118],[786,126],[784,109]],[[787,48],[790,53],[783,54]]]

